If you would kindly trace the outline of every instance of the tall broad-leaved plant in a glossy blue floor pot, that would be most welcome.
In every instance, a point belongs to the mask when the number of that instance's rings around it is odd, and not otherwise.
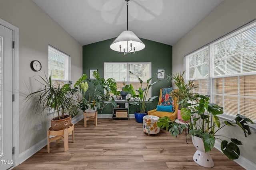
[[[158,72],[159,73],[159,72]],[[158,74],[156,73],[156,74]],[[130,103],[131,105],[135,106],[136,111],[135,111],[135,119],[138,123],[142,123],[142,118],[143,116],[147,115],[148,112],[146,111],[146,106],[148,104],[148,102],[152,102],[153,99],[157,98],[158,96],[152,96],[151,98],[148,98],[148,100],[146,99],[147,95],[148,95],[148,91],[151,88],[151,86],[153,86],[154,84],[156,84],[157,82],[159,82],[160,80],[149,84],[150,80],[156,76],[156,74],[154,74],[151,78],[149,78],[146,82],[146,88],[143,88],[143,81],[134,73],[130,72],[130,74],[135,75],[139,82],[140,82],[140,88],[139,89],[134,89],[132,84],[130,85],[126,85],[123,89],[125,92],[129,92],[131,94],[131,98],[127,99],[127,100],[131,100],[132,102]],[[136,94],[137,92],[137,94]]]

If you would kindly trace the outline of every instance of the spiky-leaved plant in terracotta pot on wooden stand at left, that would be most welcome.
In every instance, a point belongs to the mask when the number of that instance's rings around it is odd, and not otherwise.
[[[54,83],[51,73],[48,78],[46,75],[45,78],[39,77],[39,80],[36,80],[44,88],[29,94],[26,100],[34,99],[33,96],[38,95],[37,108],[41,107],[42,111],[50,109],[53,111],[53,115],[58,115],[51,120],[52,129],[66,129],[71,123],[71,118],[79,113],[78,101],[74,97],[74,94],[78,92],[78,88],[72,88],[71,82],[61,85],[56,82]],[[86,91],[87,88],[83,88],[83,90]]]

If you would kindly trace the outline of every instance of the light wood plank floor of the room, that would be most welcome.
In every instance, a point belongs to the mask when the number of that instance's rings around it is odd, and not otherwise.
[[[84,119],[75,125],[75,143],[69,137],[69,150],[64,152],[64,143],[50,143],[28,158],[14,170],[205,170],[193,161],[196,149],[191,139],[186,144],[185,134],[176,138],[164,129],[156,135],[148,136],[142,130],[142,124],[135,119],[114,120]],[[236,162],[229,160],[217,149],[210,152],[214,160],[212,170],[242,170]]]

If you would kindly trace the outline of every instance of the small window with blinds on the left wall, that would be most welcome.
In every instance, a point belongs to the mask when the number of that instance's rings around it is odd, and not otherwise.
[[[48,71],[49,75],[52,72],[52,80],[70,80],[70,56],[49,45]]]

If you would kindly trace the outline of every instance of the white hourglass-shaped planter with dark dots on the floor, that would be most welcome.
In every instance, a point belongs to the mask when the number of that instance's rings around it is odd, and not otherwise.
[[[193,160],[200,166],[212,168],[214,166],[214,162],[209,152],[205,152],[202,138],[192,136],[192,143],[197,149],[193,156]]]

